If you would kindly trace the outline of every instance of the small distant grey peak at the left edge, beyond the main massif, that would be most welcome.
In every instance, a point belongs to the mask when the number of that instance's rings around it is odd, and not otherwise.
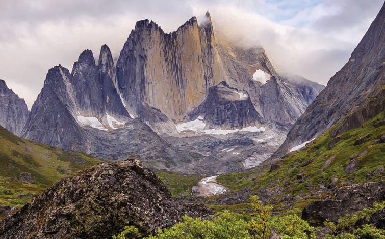
[[[0,125],[16,135],[20,135],[27,122],[28,108],[24,99],[20,99],[4,80],[0,80]]]

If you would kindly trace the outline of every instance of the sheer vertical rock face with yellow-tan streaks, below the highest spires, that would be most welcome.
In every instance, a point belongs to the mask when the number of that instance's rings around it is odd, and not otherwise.
[[[121,93],[132,110],[144,101],[176,120],[223,81],[221,72],[211,22],[198,25],[195,17],[170,34],[148,20],[138,22],[117,67]]]

